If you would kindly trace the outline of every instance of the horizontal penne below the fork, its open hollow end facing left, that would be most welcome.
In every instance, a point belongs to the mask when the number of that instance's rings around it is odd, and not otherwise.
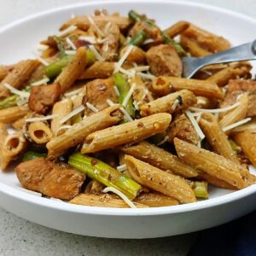
[[[165,88],[164,90],[163,87]],[[152,88],[155,93],[158,93],[158,90],[160,90],[160,95],[163,95],[164,92],[168,94],[176,90],[191,90],[194,92],[195,96],[205,96],[216,99],[223,98],[223,93],[218,88],[218,85],[212,82],[208,83],[206,80],[160,76],[154,79]]]

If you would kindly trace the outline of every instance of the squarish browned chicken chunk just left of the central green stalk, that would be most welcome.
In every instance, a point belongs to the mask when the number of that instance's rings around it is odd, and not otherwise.
[[[117,102],[117,96],[113,89],[113,79],[96,79],[86,84],[86,96],[84,104],[89,102],[99,111],[108,108],[107,100]],[[93,112],[86,108],[85,114],[90,115]]]

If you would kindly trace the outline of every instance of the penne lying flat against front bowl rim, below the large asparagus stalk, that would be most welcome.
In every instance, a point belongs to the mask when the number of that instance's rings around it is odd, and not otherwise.
[[[89,207],[111,207],[111,208],[130,208],[125,201],[113,198],[111,195],[101,194],[79,194],[73,200],[69,201],[71,204],[89,206]],[[137,208],[147,208],[148,206],[141,203],[134,203]]]

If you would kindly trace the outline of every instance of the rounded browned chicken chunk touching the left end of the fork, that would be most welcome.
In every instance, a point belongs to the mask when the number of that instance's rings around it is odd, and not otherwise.
[[[181,76],[183,64],[172,45],[154,46],[148,50],[146,57],[155,76]]]

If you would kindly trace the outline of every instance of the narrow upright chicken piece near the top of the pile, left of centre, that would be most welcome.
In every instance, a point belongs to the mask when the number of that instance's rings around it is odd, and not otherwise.
[[[102,30],[106,33],[107,37],[104,38],[101,55],[105,61],[116,61],[120,39],[119,27],[114,23],[110,23],[110,26],[108,27],[108,23],[106,23]]]

